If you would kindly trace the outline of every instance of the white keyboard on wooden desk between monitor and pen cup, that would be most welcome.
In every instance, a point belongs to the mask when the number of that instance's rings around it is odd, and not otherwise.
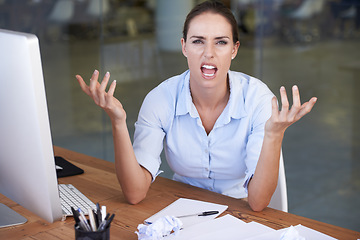
[[[63,214],[66,216],[73,215],[71,207],[75,210],[80,208],[85,215],[89,208],[96,209],[96,205],[72,184],[59,184],[59,196]]]

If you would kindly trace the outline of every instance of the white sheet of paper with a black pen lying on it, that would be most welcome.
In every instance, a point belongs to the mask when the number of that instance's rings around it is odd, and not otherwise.
[[[152,215],[148,219],[145,220],[145,223],[152,223],[156,221],[158,218],[164,216],[182,216],[188,214],[197,214],[205,211],[219,211],[218,214],[209,215],[209,216],[191,216],[191,217],[183,217],[180,220],[183,223],[183,228],[187,228],[189,226],[193,226],[195,224],[199,224],[201,222],[209,221],[217,216],[219,216],[222,212],[224,212],[228,206],[210,203],[210,202],[203,202],[193,199],[187,198],[179,198],[175,202],[171,203],[166,208],[162,209],[158,213]]]

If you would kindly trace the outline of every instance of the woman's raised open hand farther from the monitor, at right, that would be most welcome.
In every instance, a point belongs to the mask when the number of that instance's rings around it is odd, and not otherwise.
[[[301,104],[299,89],[296,85],[292,87],[292,94],[293,105],[290,109],[285,87],[280,88],[281,111],[279,111],[276,97],[272,99],[272,114],[265,124],[265,132],[283,136],[285,130],[308,114],[317,101],[317,98],[313,97],[308,102]]]

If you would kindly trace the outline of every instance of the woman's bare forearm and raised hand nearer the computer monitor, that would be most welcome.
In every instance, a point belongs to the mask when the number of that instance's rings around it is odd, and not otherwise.
[[[98,78],[99,72],[95,70],[90,84],[87,85],[80,75],[76,75],[81,89],[110,116],[113,125],[116,175],[125,199],[130,204],[136,204],[145,198],[152,177],[150,172],[136,161],[126,126],[125,110],[120,101],[114,97],[116,81],[110,84],[109,90],[106,92],[110,73],[105,74],[101,83]]]

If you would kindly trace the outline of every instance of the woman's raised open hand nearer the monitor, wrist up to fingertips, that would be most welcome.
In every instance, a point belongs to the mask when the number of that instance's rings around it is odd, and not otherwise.
[[[85,83],[80,75],[76,75],[76,79],[80,84],[81,89],[89,95],[96,105],[100,106],[109,115],[113,123],[118,121],[125,122],[126,112],[121,102],[114,97],[116,81],[114,80],[106,92],[106,86],[110,79],[110,73],[107,72],[101,83],[98,81],[99,71],[95,70],[90,78],[89,86]]]

